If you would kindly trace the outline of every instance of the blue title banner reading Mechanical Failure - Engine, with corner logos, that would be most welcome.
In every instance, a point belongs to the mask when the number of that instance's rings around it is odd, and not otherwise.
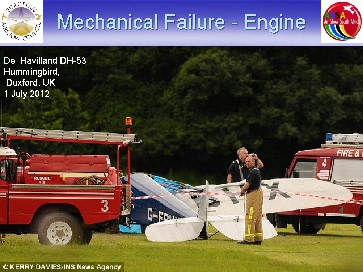
[[[360,2],[3,0],[0,37],[3,46],[361,46]],[[345,40],[329,33],[337,25]]]

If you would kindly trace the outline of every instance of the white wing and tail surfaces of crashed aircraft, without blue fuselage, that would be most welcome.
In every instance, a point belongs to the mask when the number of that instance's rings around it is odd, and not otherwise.
[[[243,240],[245,228],[245,199],[239,197],[244,183],[209,185],[206,182],[198,212],[195,217],[172,219],[149,225],[146,237],[154,242],[179,242],[197,238],[208,223],[225,236]],[[263,214],[306,209],[345,203],[352,193],[339,185],[313,178],[262,180],[264,193]],[[218,198],[210,203],[209,196]],[[190,201],[188,202],[190,203]],[[196,206],[191,205],[196,210]],[[275,228],[262,218],[263,239],[277,235]]]

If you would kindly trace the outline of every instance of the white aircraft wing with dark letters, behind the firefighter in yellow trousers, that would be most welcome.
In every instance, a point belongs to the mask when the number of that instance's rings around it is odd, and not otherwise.
[[[210,194],[219,200],[210,205],[211,215],[243,215],[241,186],[243,183],[209,185]],[[262,190],[263,214],[336,205],[353,197],[347,188],[313,178],[262,180]]]

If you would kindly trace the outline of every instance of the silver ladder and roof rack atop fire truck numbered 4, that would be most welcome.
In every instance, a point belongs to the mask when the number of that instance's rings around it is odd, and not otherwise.
[[[322,147],[363,147],[363,134],[327,133]]]

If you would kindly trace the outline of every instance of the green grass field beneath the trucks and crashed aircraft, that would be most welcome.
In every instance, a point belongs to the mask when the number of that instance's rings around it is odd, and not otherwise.
[[[219,233],[178,243],[148,242],[144,234],[96,233],[88,246],[40,245],[36,235],[9,234],[0,244],[0,260],[124,262],[125,271],[363,271],[360,227],[328,224],[316,235],[297,235],[291,227],[277,231],[261,246],[239,245]]]

